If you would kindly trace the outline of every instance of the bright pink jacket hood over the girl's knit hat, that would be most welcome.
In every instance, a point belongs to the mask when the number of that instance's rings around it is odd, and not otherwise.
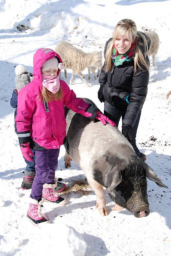
[[[42,73],[41,67],[45,63],[45,61],[56,57],[59,63],[62,63],[62,59],[58,53],[49,48],[41,48],[38,49],[33,56],[33,76],[34,80],[38,80],[40,84],[42,84]],[[59,75],[60,69],[57,71],[57,75]]]

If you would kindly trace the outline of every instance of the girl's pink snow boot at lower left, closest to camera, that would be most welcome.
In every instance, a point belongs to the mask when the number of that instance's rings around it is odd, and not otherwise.
[[[44,200],[42,199],[38,202],[36,199],[29,198],[29,209],[27,211],[27,218],[31,221],[34,225],[40,226],[43,223],[49,223],[49,220],[45,219],[42,211],[42,204]]]

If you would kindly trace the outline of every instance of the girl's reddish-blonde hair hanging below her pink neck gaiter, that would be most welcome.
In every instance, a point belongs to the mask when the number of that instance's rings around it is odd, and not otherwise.
[[[45,86],[43,86],[42,88],[42,92],[39,95],[39,99],[43,100],[43,98],[47,101],[47,102],[51,102],[53,100],[62,100],[63,98],[63,92],[61,87],[59,88],[59,91],[56,92],[55,94],[48,91],[48,89],[46,89]]]

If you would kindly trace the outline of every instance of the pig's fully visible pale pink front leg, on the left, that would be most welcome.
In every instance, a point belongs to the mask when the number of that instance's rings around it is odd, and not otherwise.
[[[104,189],[103,187],[94,181],[88,180],[90,186],[95,192],[96,195],[96,208],[98,208],[100,215],[107,216],[107,208],[106,208],[106,200],[104,197]]]

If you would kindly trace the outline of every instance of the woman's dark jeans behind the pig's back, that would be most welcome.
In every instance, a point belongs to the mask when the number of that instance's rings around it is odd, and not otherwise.
[[[111,119],[113,122],[115,122],[117,127],[118,127],[120,118],[122,117],[122,120],[124,119],[125,113],[126,113],[126,110],[119,110],[113,107],[112,105],[110,105],[107,101],[104,101],[104,115],[107,116],[109,119]],[[134,126],[131,128],[131,132],[133,136],[133,141],[131,145],[135,153],[137,154],[137,156],[142,157],[141,152],[136,146],[136,132],[137,132],[140,116],[141,116],[141,110],[138,113]]]

